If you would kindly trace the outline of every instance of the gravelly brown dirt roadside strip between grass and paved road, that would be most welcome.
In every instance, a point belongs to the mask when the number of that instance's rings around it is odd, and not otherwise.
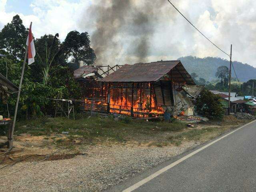
[[[78,145],[56,154],[52,153],[62,146],[52,138],[63,139],[66,135],[21,134],[15,136],[13,148],[21,151],[0,156],[0,177],[4,176],[0,191],[102,191],[249,121],[225,116],[222,122],[195,123],[193,128],[178,133],[157,132],[125,143],[105,141]],[[211,128],[214,130],[207,132]],[[205,133],[196,140],[181,138],[179,145],[167,142],[173,134],[202,129]],[[1,142],[6,142],[6,137],[0,137]],[[7,149],[0,150],[1,155]],[[31,164],[33,162],[38,163]]]

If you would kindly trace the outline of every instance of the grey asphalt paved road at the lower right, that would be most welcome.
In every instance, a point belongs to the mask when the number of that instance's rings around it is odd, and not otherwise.
[[[193,151],[200,148],[202,146]],[[108,191],[121,192],[193,151]],[[132,191],[256,192],[256,122],[218,140]]]

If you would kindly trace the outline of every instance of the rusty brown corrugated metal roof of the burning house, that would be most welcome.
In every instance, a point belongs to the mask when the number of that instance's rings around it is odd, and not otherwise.
[[[156,82],[166,74],[176,82],[195,84],[179,60],[151,63],[125,64],[120,69],[98,81],[101,82]]]

